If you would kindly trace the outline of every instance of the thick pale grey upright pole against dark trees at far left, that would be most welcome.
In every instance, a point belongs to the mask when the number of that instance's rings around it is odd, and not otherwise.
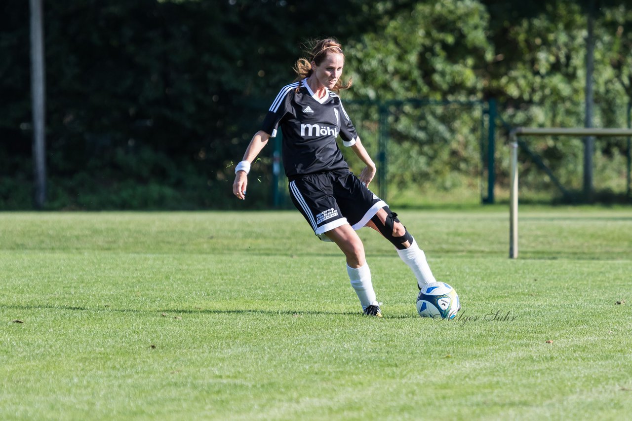
[[[46,201],[46,138],[44,85],[44,29],[42,0],[30,0],[31,18],[31,94],[33,106],[33,168],[35,175],[35,207]]]

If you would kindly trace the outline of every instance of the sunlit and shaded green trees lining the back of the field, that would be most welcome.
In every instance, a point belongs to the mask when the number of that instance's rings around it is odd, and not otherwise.
[[[378,105],[389,100],[494,98],[499,144],[502,122],[581,127],[591,10],[594,126],[625,127],[627,1],[46,0],[46,208],[269,206],[272,147],[253,166],[245,203],[231,193],[234,164],[294,80],[302,44],[322,37],[343,43],[343,77],[353,78],[343,101],[371,153]],[[0,4],[0,210],[33,206],[28,19],[27,1]],[[476,193],[480,122],[471,112],[403,105],[389,114],[389,191],[448,201]],[[530,144],[562,182],[581,185],[580,139]],[[597,189],[624,192],[625,141],[595,145]],[[499,147],[501,198],[506,161]],[[544,173],[521,162],[521,188],[553,197]]]

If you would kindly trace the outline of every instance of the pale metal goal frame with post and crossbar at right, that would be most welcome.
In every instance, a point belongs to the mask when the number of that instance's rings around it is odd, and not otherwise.
[[[518,136],[632,136],[632,129],[516,127],[509,132],[509,258],[518,258]]]

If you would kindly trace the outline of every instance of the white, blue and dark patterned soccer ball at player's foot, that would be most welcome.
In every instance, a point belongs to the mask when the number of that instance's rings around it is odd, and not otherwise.
[[[422,317],[451,320],[459,309],[456,290],[445,282],[430,282],[417,295],[417,312]]]

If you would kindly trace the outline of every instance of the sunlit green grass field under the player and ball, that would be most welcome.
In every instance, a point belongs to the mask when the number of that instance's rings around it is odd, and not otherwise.
[[[0,213],[0,419],[629,417],[631,208],[399,217],[458,321],[368,228],[362,316],[296,211]]]

